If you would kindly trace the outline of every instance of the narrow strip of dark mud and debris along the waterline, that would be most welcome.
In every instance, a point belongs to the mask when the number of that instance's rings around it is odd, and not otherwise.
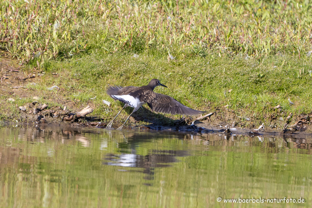
[[[92,106],[92,105],[91,105]],[[16,106],[17,107],[17,106]],[[23,107],[24,109],[22,109]],[[73,108],[72,108],[73,109]],[[105,128],[109,119],[93,116],[93,109],[88,105],[84,109],[70,110],[67,106],[56,105],[48,106],[40,101],[26,103],[24,106],[18,107],[17,117],[12,117],[17,122],[36,123],[36,124],[58,124],[76,126],[89,126],[97,128]],[[90,110],[88,114],[80,115],[84,110]],[[85,110],[85,111],[86,111]],[[142,109],[146,113],[148,109]],[[89,114],[90,113],[90,114]],[[200,132],[200,133],[224,133],[224,134],[250,134],[250,135],[278,135],[278,134],[298,134],[310,133],[310,116],[300,116],[296,122],[292,122],[291,115],[285,121],[283,128],[272,128],[262,123],[260,126],[251,125],[250,123],[237,122],[236,120],[221,120],[217,119],[216,112],[203,116],[204,118],[182,117],[181,119],[172,119],[171,125],[158,122],[158,119],[149,116],[134,115],[131,122],[125,129],[152,129],[152,130],[172,130],[183,132]],[[144,113],[143,113],[144,115]],[[146,115],[146,114],[145,114]],[[144,123],[142,121],[145,121]],[[117,128],[123,123],[123,120],[116,120],[113,127]],[[248,127],[249,126],[249,127]]]

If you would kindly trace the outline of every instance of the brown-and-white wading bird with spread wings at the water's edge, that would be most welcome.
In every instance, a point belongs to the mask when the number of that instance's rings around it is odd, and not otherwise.
[[[142,87],[118,87],[118,86],[110,86],[106,92],[110,95],[114,100],[119,100],[123,102],[125,107],[133,107],[133,112],[137,111],[143,104],[147,103],[152,112],[159,113],[168,113],[168,114],[181,114],[181,115],[196,115],[203,113],[204,111],[191,109],[181,103],[179,103],[176,99],[164,94],[155,93],[153,90],[157,86],[164,86],[161,84],[159,80],[152,79],[148,85]],[[121,110],[122,110],[121,109]],[[121,112],[118,112],[118,114]],[[115,118],[118,116],[115,116]],[[129,115],[129,117],[131,116]],[[126,119],[124,124],[127,122],[129,117]],[[107,125],[106,128],[111,128],[113,121],[115,118]],[[122,124],[118,129],[122,129],[124,124]]]

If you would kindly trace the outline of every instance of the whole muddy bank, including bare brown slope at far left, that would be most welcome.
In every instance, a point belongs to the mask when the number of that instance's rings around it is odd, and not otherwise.
[[[0,119],[3,121],[17,121],[26,123],[48,123],[67,125],[75,123],[77,125],[105,127],[112,119],[112,113],[96,113],[103,108],[89,99],[81,102],[74,99],[71,91],[66,91],[62,84],[46,86],[45,90],[36,88],[43,79],[57,80],[62,74],[42,71],[22,69],[15,60],[2,57],[0,63],[1,70],[1,93],[0,93]],[[89,106],[89,107],[88,107]],[[87,110],[87,109],[89,110]],[[108,106],[106,106],[109,109]],[[83,110],[87,114],[78,116]],[[99,110],[100,109],[100,110]],[[240,109],[239,113],[246,116],[238,116],[237,112],[222,106],[220,108],[207,108],[207,113],[211,113],[206,118],[195,121],[193,117],[176,119],[173,116],[155,114],[143,107],[130,117],[129,127],[125,128],[148,128],[158,130],[178,130],[178,131],[201,131],[204,129],[227,129],[236,128],[237,131],[254,131],[264,123],[265,131],[277,133],[312,132],[310,128],[310,118],[312,115],[292,114],[285,112],[279,106],[272,109],[271,113],[264,114],[261,118],[254,116],[253,112],[248,113],[248,109]],[[93,112],[95,111],[95,113]],[[102,110],[103,111],[103,110]],[[126,110],[127,112],[127,110]],[[128,113],[128,112],[127,112]],[[105,116],[109,115],[109,116]],[[287,116],[287,117],[286,117]],[[114,121],[114,128],[120,126],[127,115],[122,115]],[[194,122],[197,129],[194,129]],[[126,125],[127,125],[126,124]],[[219,131],[217,130],[217,131]],[[207,131],[207,130],[206,130]],[[232,131],[232,130],[231,130]]]

